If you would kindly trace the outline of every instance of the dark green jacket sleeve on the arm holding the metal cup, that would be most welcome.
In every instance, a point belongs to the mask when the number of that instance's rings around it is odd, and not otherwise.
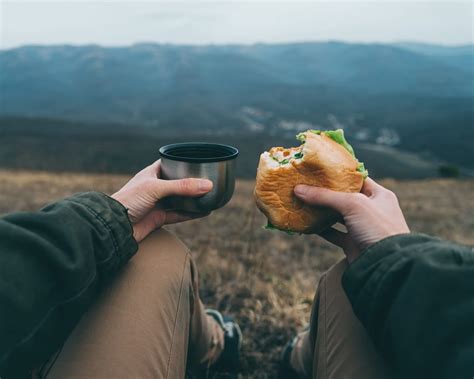
[[[101,193],[0,218],[0,377],[58,349],[136,250],[126,209]]]

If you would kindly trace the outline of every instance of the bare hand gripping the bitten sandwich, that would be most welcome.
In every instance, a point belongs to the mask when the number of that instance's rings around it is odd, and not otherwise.
[[[410,232],[395,194],[370,178],[365,180],[361,193],[305,185],[296,186],[294,191],[306,204],[328,207],[342,215],[347,233],[329,228],[320,235],[341,247],[349,263],[375,242]]]

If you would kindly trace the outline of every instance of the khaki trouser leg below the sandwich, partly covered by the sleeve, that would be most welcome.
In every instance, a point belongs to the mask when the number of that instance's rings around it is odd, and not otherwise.
[[[355,316],[341,284],[344,259],[323,274],[310,330],[298,341],[294,367],[313,379],[385,379],[390,371]]]

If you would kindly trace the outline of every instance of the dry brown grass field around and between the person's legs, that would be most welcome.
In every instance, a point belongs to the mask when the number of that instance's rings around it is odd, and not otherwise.
[[[75,192],[112,193],[127,177],[0,171],[0,214],[36,210]],[[413,231],[474,244],[474,181],[392,181]],[[342,257],[315,236],[264,230],[253,182],[207,219],[171,227],[195,253],[205,303],[239,320],[242,377],[275,376],[279,352],[305,325],[320,274]]]

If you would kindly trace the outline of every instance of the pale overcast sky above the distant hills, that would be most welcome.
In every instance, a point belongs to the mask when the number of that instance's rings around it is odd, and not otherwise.
[[[473,42],[471,1],[3,1],[2,48],[343,40]]]

